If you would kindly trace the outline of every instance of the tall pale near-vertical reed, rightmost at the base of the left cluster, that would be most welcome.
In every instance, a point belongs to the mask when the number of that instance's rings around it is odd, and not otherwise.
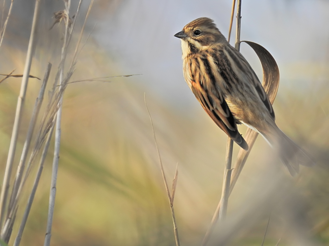
[[[65,8],[67,11],[67,20],[65,22],[65,34],[63,41],[63,48],[61,54],[61,65],[60,65],[60,79],[59,85],[60,90],[63,86],[63,75],[64,75],[64,63],[66,58],[66,45],[67,45],[67,34],[68,34],[68,25],[69,25],[69,14],[70,14],[70,5],[71,1],[68,0],[67,4],[65,3]],[[50,245],[51,238],[51,228],[53,224],[53,216],[54,216],[54,207],[55,207],[55,198],[56,198],[56,183],[57,183],[57,173],[58,173],[58,161],[60,158],[60,145],[61,145],[61,120],[62,120],[62,104],[63,104],[63,94],[61,95],[61,99],[59,102],[59,109],[57,111],[56,117],[56,130],[55,130],[55,147],[54,147],[54,158],[53,158],[53,167],[51,173],[51,184],[50,184],[50,193],[49,193],[49,206],[48,206],[48,217],[47,217],[47,227],[46,227],[46,235],[44,238],[44,246]]]

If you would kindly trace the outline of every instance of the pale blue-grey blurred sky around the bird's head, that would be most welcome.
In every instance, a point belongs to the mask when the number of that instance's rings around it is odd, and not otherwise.
[[[125,74],[142,73],[139,83],[185,108],[197,102],[183,78],[181,42],[173,35],[205,16],[227,37],[231,6],[231,0],[126,0],[114,15],[98,20],[94,36]],[[280,88],[328,80],[329,1],[244,0],[241,12],[241,40],[271,52],[280,68]],[[235,23],[232,37],[231,44]],[[243,44],[241,52],[261,76],[251,48]]]

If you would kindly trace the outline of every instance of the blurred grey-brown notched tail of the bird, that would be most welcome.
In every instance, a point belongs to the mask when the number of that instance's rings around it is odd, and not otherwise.
[[[315,163],[311,156],[293,142],[276,125],[273,125],[269,130],[262,132],[262,134],[272,147],[278,151],[280,159],[288,168],[292,176],[298,174],[299,165],[308,167],[314,166]]]

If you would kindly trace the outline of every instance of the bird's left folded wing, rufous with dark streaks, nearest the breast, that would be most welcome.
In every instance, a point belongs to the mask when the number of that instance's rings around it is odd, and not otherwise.
[[[206,63],[202,58],[190,58],[184,67],[185,80],[203,109],[214,120],[216,125],[240,145],[241,148],[248,150],[248,144],[239,133],[237,124],[222,94],[214,86],[209,87],[209,85],[215,85],[216,83],[216,81],[212,81],[215,79],[214,76],[209,76],[209,73],[205,72],[201,73],[200,65],[203,70],[207,66],[203,62]]]

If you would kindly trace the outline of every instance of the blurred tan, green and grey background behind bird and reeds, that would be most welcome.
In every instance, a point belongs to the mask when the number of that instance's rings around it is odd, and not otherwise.
[[[5,3],[1,11],[8,11],[9,1]],[[63,24],[49,29],[53,13],[64,4],[41,3],[31,74],[42,78],[51,62],[51,85],[64,29]],[[0,73],[23,73],[34,4],[14,1],[0,49]],[[70,16],[77,5],[72,0]],[[88,6],[84,1],[77,30]],[[178,163],[174,208],[181,245],[201,244],[221,195],[227,138],[186,85],[180,40],[173,35],[206,16],[227,37],[231,6],[229,0],[95,0],[72,80],[139,75],[67,87],[51,245],[175,245],[144,93],[170,189]],[[264,46],[280,69],[273,104],[277,125],[317,165],[301,167],[292,178],[259,137],[230,196],[227,219],[217,225],[209,245],[261,245],[270,214],[264,245],[329,245],[329,1],[249,0],[242,1],[241,12],[241,40]],[[232,45],[235,21],[233,27]],[[241,53],[261,78],[254,51],[242,44]],[[0,84],[1,179],[20,82],[8,78]],[[39,80],[29,80],[16,166],[39,88]],[[240,132],[245,132],[243,126]],[[234,146],[233,162],[238,151]],[[52,158],[53,144],[21,245],[43,243]],[[18,221],[36,168],[18,208]]]

